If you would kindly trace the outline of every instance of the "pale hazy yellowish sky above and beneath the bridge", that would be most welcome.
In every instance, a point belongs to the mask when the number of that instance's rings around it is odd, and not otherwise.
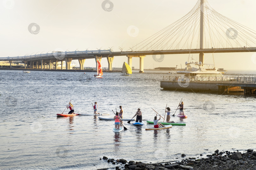
[[[0,57],[63,51],[129,50],[186,15],[197,0],[1,0]],[[256,30],[255,0],[208,0],[218,13]],[[144,58],[144,69],[185,67],[189,54]],[[199,54],[193,54],[199,59]],[[78,60],[74,60],[79,66]],[[114,57],[113,67],[122,67],[127,57]],[[256,70],[256,53],[215,53],[216,68]],[[204,63],[213,64],[212,54]],[[86,59],[86,67],[95,67]],[[107,58],[101,60],[108,67]],[[139,68],[139,58],[132,58]]]

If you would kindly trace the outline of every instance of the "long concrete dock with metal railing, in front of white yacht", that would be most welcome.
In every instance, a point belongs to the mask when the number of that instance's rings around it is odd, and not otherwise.
[[[255,94],[256,77],[163,76],[160,87],[174,91]]]

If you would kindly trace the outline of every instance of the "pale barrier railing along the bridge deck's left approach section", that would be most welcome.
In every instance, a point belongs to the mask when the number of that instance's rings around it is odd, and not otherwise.
[[[108,50],[86,50],[86,51],[65,51],[65,52],[52,52],[46,54],[35,54],[29,56],[17,56],[17,57],[3,57],[0,61],[10,61],[10,60],[24,60],[24,59],[36,59],[42,57],[54,57],[54,56],[69,56],[69,55],[89,55],[89,54],[110,54],[112,53],[110,49]]]

